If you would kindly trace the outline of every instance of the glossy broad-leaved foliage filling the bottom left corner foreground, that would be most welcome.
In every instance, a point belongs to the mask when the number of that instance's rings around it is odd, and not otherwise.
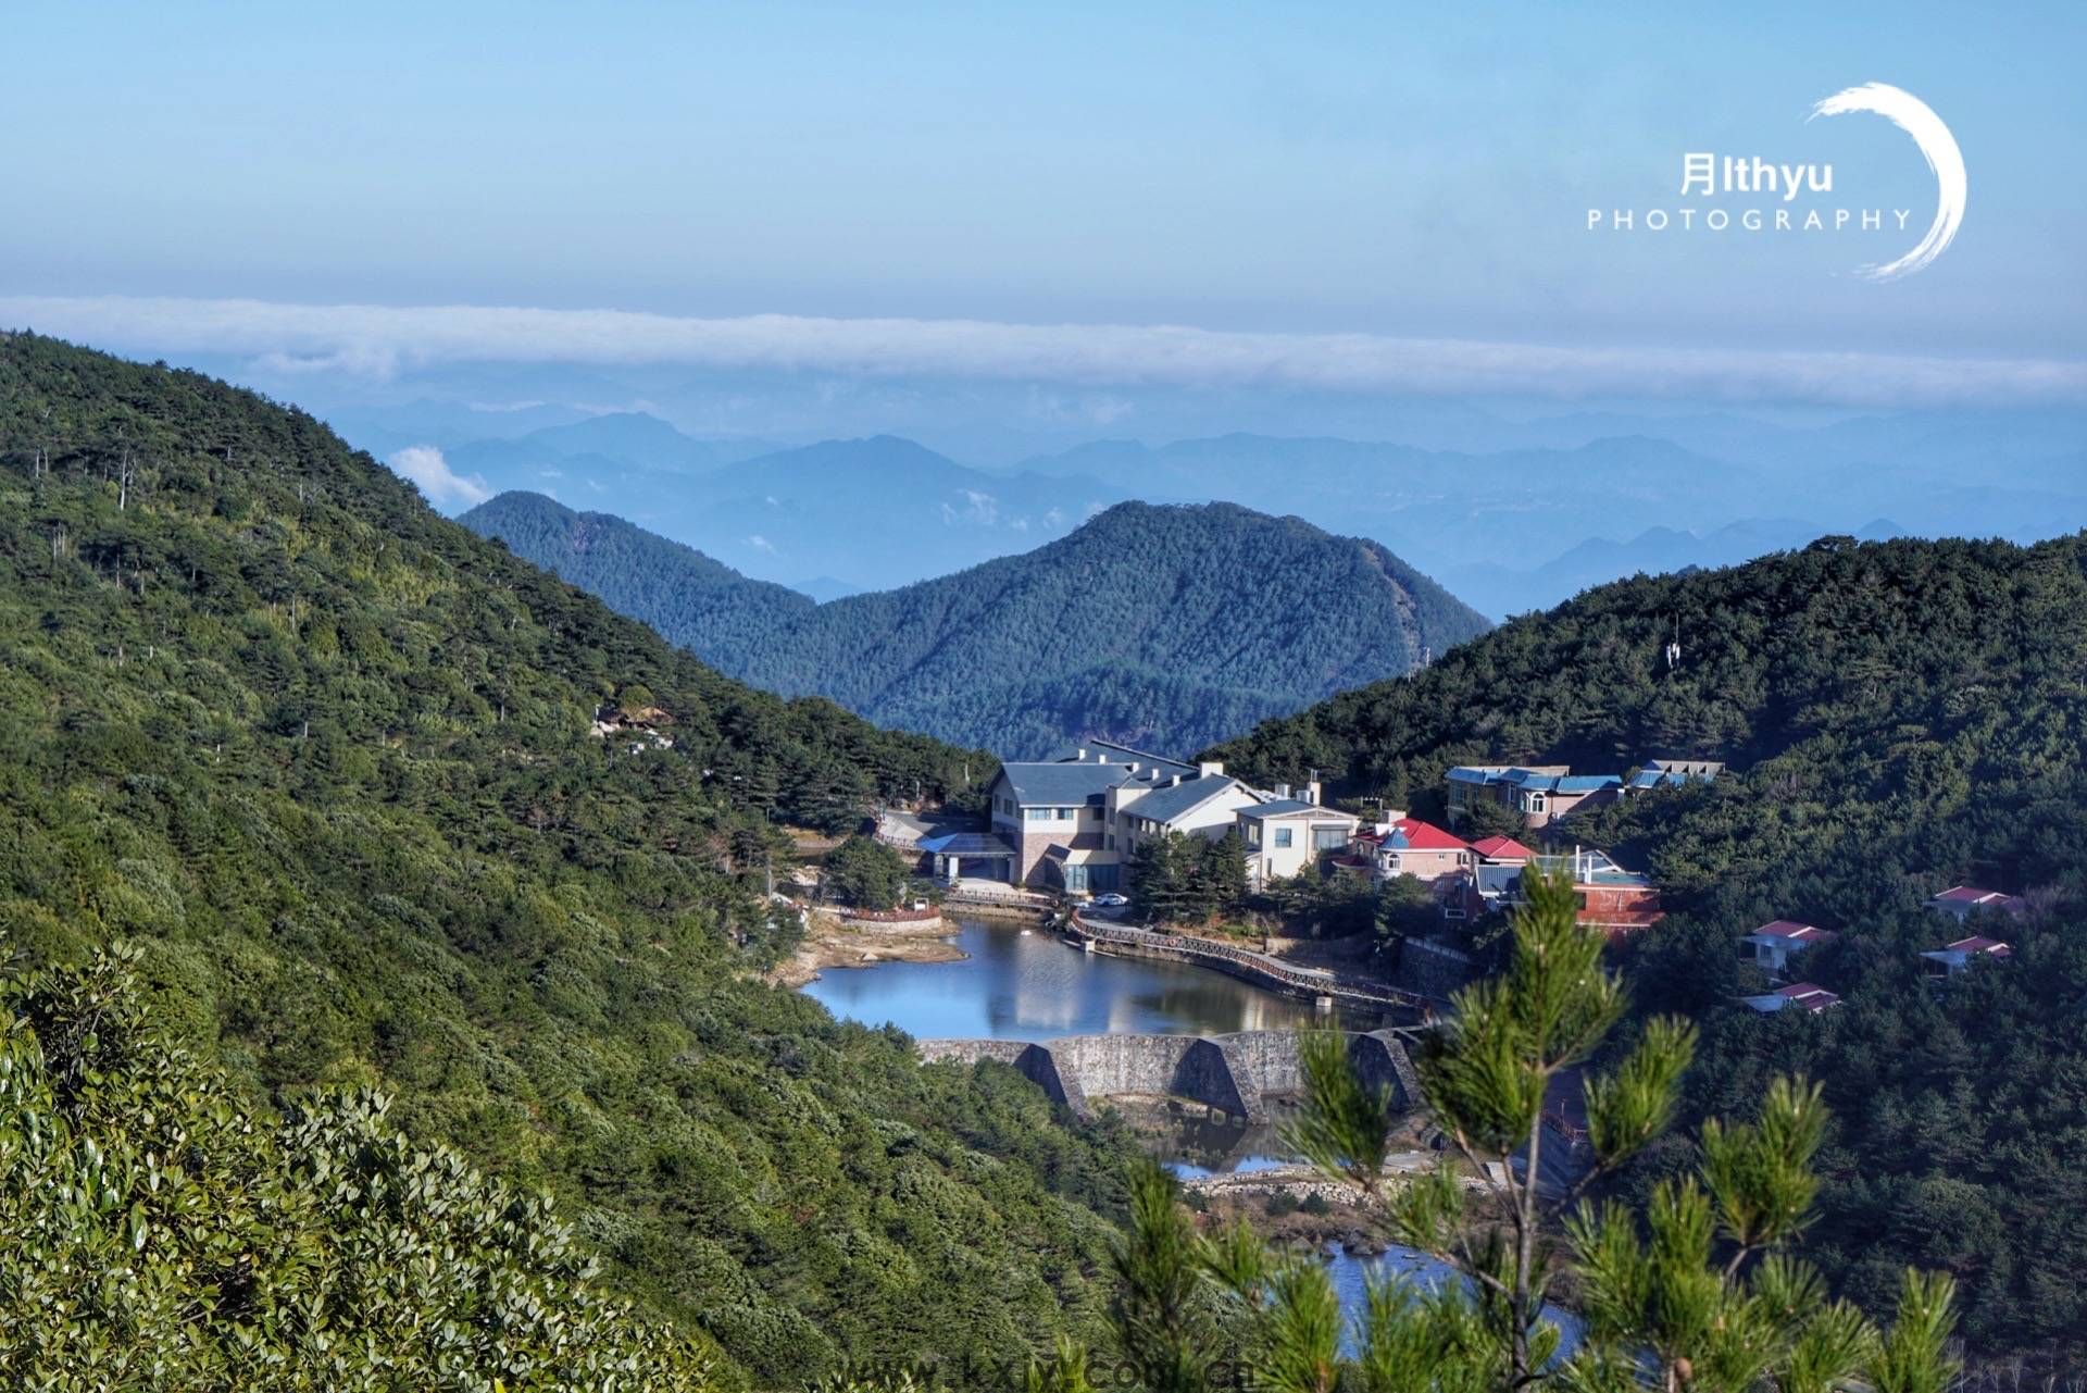
[[[718,1387],[547,1201],[411,1149],[380,1094],[248,1105],[146,1019],[140,959],[0,977],[0,1383]]]

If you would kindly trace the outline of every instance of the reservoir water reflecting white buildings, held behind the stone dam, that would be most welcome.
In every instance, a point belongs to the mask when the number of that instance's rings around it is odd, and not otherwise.
[[[1327,1019],[1309,1000],[1150,959],[1089,954],[1041,929],[960,919],[958,963],[829,969],[803,988],[841,1017],[916,1038],[1054,1040],[1092,1034],[1225,1034]],[[1375,1015],[1340,1013],[1350,1030]]]

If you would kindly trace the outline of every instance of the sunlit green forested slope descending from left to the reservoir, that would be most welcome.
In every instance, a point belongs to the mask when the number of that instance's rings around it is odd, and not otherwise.
[[[605,702],[672,743],[599,739]],[[301,411],[0,340],[0,934],[129,940],[257,1103],[397,1094],[726,1376],[1083,1326],[1114,1144],[747,977],[776,819],[983,756],[749,691]]]

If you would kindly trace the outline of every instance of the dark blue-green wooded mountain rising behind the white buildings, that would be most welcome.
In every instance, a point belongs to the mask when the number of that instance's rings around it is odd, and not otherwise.
[[[939,476],[920,464],[916,482]],[[1200,750],[1488,627],[1373,541],[1231,503],[1119,503],[1035,551],[829,604],[534,493],[461,522],[728,675],[1006,756],[1081,735]]]

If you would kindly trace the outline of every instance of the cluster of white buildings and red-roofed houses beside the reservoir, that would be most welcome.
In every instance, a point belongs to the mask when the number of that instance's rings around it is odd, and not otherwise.
[[[1382,938],[1371,975],[1430,998],[1446,996],[1480,971],[1469,948],[1488,923],[1521,900],[1528,871],[1563,873],[1580,904],[1580,923],[1611,944],[1665,917],[1659,883],[1607,850],[1580,844],[1576,821],[1628,798],[1726,773],[1716,760],[1651,758],[1617,773],[1576,773],[1567,764],[1457,764],[1442,779],[1448,827],[1402,808],[1346,810],[1323,796],[1317,777],[1302,785],[1256,787],[1221,760],[1179,760],[1108,739],[1087,739],[1056,758],[1006,760],[987,787],[975,823],[885,810],[877,837],[904,852],[939,892],[970,902],[1023,896],[1060,904],[1114,927],[1165,927],[1169,934],[1227,929],[1263,906],[1265,942],[1311,944],[1323,938],[1329,900],[1346,894],[1371,906]],[[1482,831],[1482,827],[1509,827]],[[1465,835],[1459,835],[1463,831]],[[1236,863],[1229,896],[1190,898],[1190,913],[1162,904],[1142,883],[1165,875],[1167,856],[1190,854],[1198,867]],[[1208,873],[1208,871],[1204,871]],[[1227,873],[1229,875],[1229,873]],[[1292,890],[1292,908],[1284,904]],[[1396,904],[1402,913],[1390,913]],[[1196,908],[1204,923],[1196,923]],[[1972,915],[2024,913],[2020,896],[1951,886],[1928,900],[1951,927]],[[1357,927],[1354,919],[1346,925]],[[1757,1013],[1818,1013],[1841,998],[1799,975],[1809,948],[1837,931],[1778,919],[1743,936],[1741,963],[1759,971],[1766,990],[1741,998]],[[2008,961],[2006,940],[1958,934],[1922,952],[1933,982],[1972,961]]]

